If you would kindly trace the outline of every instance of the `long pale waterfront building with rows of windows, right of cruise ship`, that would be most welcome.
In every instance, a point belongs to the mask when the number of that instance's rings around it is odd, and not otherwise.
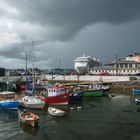
[[[137,75],[140,74],[140,54],[129,55],[124,59],[114,60],[112,63],[89,70],[91,75]]]

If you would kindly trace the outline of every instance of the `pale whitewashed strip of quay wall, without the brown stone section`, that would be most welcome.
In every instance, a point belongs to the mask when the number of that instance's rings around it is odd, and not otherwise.
[[[48,80],[60,80],[60,81],[103,81],[103,82],[121,82],[121,81],[129,81],[129,76],[90,76],[90,75],[39,75],[35,76],[41,79]],[[0,80],[25,80],[25,76],[8,76],[8,77],[0,77]]]

